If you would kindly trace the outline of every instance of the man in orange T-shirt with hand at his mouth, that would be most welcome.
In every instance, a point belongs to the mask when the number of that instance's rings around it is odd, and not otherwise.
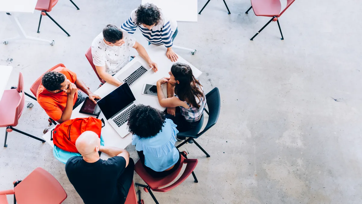
[[[80,90],[77,90],[80,89]],[[38,88],[37,101],[51,119],[58,123],[69,120],[72,110],[79,106],[87,95],[90,100],[100,99],[93,94],[76,73],[59,67],[46,72]]]

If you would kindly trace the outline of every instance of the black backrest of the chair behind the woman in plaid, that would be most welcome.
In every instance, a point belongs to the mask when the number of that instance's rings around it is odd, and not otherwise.
[[[210,127],[214,126],[219,119],[221,99],[218,87],[215,87],[206,94],[206,104],[209,109],[209,120],[207,121],[205,128],[197,134],[196,138],[209,130]]]

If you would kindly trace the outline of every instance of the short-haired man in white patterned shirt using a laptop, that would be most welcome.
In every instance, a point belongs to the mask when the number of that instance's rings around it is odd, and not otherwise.
[[[109,24],[92,42],[93,64],[98,76],[112,85],[120,86],[122,82],[112,76],[130,61],[131,48],[136,49],[148,66],[157,72],[157,64],[150,59],[146,49],[125,30]]]

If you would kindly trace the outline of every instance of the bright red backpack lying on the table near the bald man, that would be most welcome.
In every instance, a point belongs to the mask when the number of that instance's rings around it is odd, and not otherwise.
[[[74,118],[57,125],[52,131],[54,145],[68,152],[76,152],[75,141],[84,131],[93,131],[101,137],[102,121],[97,118]]]

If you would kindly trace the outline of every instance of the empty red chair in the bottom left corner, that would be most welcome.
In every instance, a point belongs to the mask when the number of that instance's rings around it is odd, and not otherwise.
[[[14,204],[60,204],[67,198],[62,185],[40,167],[13,184],[13,189],[0,191],[1,204],[8,203],[6,195],[14,195]]]

